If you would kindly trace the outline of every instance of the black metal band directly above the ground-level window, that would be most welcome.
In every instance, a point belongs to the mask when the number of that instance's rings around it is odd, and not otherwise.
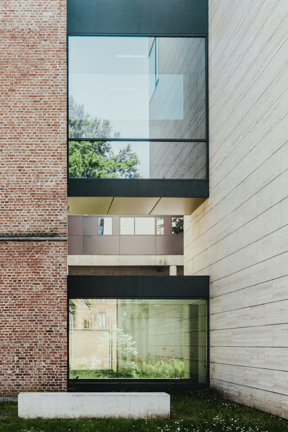
[[[70,298],[209,298],[209,276],[67,276]]]

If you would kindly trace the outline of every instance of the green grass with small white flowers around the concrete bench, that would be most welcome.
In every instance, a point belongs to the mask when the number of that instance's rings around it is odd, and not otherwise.
[[[288,432],[288,420],[210,392],[171,393],[171,419],[18,419],[16,402],[0,403],[0,432]]]

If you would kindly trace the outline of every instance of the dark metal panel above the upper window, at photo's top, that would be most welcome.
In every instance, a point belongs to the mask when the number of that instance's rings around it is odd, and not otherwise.
[[[67,0],[68,34],[208,33],[208,0]]]

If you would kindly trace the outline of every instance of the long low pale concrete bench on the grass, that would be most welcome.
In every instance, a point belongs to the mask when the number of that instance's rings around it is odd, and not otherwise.
[[[18,416],[81,417],[170,417],[168,393],[19,393]]]

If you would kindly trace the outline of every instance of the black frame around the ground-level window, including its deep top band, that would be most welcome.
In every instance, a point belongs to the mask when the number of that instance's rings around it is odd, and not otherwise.
[[[175,279],[177,278],[177,279]],[[200,299],[206,300],[207,379],[193,383],[173,378],[69,377],[69,316],[67,318],[67,391],[191,391],[209,387],[209,276],[67,276],[67,307],[70,299]],[[182,382],[181,382],[182,381]]]

